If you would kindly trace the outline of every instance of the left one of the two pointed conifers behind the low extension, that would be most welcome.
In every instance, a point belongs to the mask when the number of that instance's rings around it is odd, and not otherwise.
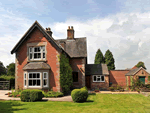
[[[95,64],[105,63],[105,59],[104,59],[103,53],[101,52],[100,49],[98,49],[97,52],[96,52],[94,63]]]

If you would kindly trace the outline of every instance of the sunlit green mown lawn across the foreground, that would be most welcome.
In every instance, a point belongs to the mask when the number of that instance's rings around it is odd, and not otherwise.
[[[150,112],[150,97],[141,94],[96,94],[88,102],[0,101],[0,113],[143,113]]]

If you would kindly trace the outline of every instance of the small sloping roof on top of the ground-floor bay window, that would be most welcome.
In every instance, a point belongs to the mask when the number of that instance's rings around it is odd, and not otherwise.
[[[51,69],[51,67],[44,62],[30,62],[23,67],[23,70],[28,69]]]

